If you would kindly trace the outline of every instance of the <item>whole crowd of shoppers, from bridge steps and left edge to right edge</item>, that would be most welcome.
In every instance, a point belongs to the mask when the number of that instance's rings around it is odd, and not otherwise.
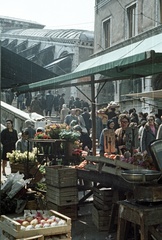
[[[88,102],[71,96],[67,103],[64,98],[64,93],[59,95],[58,91],[56,91],[53,94],[51,90],[47,91],[46,94],[41,93],[34,97],[32,97],[31,93],[20,94],[17,96],[17,108],[23,110],[23,103],[25,103],[25,107],[29,112],[36,112],[50,117],[52,111],[54,111],[55,115],[59,116],[61,123],[65,123],[72,130],[78,130],[81,133],[80,141],[82,141],[83,149],[91,150],[91,133],[93,129]],[[99,141],[100,154],[103,155],[105,151],[104,132],[111,129],[115,136],[116,154],[124,155],[127,151],[132,153],[132,149],[138,149],[143,156],[150,155],[150,143],[162,138],[161,117],[158,114],[137,113],[134,108],[122,113],[115,108],[109,110],[105,113],[106,119],[108,119],[106,125],[96,111],[96,138]],[[6,153],[14,149],[25,151],[27,139],[33,138],[35,135],[33,123],[29,120],[25,122],[25,129],[22,130],[19,139],[16,130],[13,128],[12,120],[7,120],[6,124],[6,129],[1,132],[3,174],[5,174],[5,166],[8,161]]]

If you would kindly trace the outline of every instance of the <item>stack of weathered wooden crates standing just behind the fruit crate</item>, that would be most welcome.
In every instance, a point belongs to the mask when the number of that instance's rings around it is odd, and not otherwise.
[[[77,170],[65,166],[46,167],[46,184],[47,208],[77,219]]]

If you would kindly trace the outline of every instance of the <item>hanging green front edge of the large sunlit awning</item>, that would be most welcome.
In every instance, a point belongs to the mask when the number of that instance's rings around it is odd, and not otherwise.
[[[94,66],[92,68],[85,68],[83,70],[79,70],[77,71],[78,68],[76,68],[72,73],[68,73],[65,75],[61,75],[58,77],[54,77],[54,78],[50,78],[50,79],[46,79],[43,81],[38,81],[36,83],[31,83],[31,84],[27,84],[27,85],[22,85],[20,87],[17,87],[14,89],[14,91],[17,92],[23,92],[23,91],[27,91],[27,90],[33,90],[34,89],[38,89],[38,88],[43,88],[45,86],[55,86],[56,84],[61,84],[61,83],[65,83],[68,81],[72,81],[74,79],[78,79],[78,78],[84,78],[87,76],[92,76],[94,74],[103,74],[106,73],[106,76],[108,76],[108,72],[110,71],[116,71],[116,72],[121,72],[121,77],[123,77],[123,79],[126,77],[124,74],[122,74],[122,67],[124,66],[131,66],[132,64],[140,64],[142,61],[152,57],[154,54],[154,51],[149,51],[149,52],[142,52],[133,56],[129,56],[126,58],[122,58],[122,59],[117,59],[113,62],[108,62],[106,64],[102,64],[102,65],[97,65]],[[86,65],[86,62],[88,62],[89,60],[83,62]],[[81,64],[83,64],[81,63]],[[110,74],[111,76],[111,74]]]

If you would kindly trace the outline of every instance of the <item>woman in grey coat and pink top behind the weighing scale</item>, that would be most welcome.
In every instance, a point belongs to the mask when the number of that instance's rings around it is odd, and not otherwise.
[[[156,140],[157,131],[158,125],[155,123],[155,117],[152,115],[148,116],[140,139],[141,152],[144,155],[150,155],[149,145]]]

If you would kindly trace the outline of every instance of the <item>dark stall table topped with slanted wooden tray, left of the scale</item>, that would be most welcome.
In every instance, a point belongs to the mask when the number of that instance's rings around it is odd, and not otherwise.
[[[87,156],[86,160],[88,164],[85,169],[77,169],[79,179],[99,183],[119,191],[133,190],[132,184],[126,182],[121,176],[124,169],[142,169],[141,166],[105,157]]]

